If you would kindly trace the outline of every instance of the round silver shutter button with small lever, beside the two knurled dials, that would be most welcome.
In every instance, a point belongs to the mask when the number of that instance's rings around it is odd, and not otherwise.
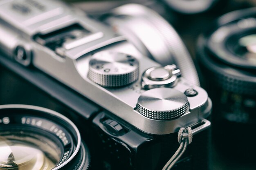
[[[144,89],[173,87],[177,84],[180,70],[173,65],[148,68],[142,75],[141,86]]]

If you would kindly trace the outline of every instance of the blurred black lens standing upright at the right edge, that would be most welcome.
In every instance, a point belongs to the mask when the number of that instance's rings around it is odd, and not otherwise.
[[[248,129],[256,122],[256,9],[220,17],[200,36],[198,60],[214,103],[216,144],[238,159],[254,154],[247,146]]]

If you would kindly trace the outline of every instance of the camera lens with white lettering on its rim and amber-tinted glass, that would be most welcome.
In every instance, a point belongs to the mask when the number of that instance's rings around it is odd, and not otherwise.
[[[90,155],[63,115],[28,105],[0,106],[0,170],[87,170]]]

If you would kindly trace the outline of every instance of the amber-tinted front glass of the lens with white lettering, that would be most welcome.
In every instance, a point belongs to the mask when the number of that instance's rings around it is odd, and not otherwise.
[[[0,170],[51,170],[62,151],[52,140],[35,132],[0,131]]]

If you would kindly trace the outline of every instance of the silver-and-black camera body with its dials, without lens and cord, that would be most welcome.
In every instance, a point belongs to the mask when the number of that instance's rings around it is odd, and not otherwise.
[[[50,0],[1,1],[0,34],[0,103],[67,115],[90,150],[90,168],[162,169],[178,148],[178,130],[192,127],[193,142],[173,169],[209,169],[211,100],[175,66],[184,56],[161,66],[129,36]]]

